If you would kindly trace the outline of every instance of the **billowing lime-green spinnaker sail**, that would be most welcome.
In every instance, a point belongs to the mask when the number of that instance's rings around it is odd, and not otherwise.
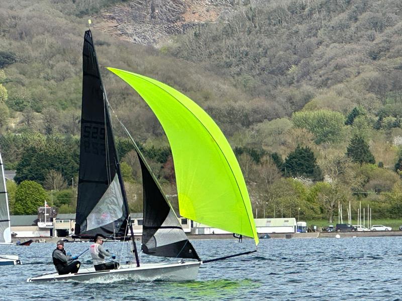
[[[108,68],[136,90],[161,123],[169,140],[180,215],[258,244],[250,198],[229,142],[195,102],[157,80]]]

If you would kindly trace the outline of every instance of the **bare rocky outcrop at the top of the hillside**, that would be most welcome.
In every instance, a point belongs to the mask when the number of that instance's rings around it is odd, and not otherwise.
[[[224,20],[239,0],[130,0],[104,11],[94,27],[133,43],[161,46],[195,25]],[[241,2],[241,0],[240,0]],[[99,18],[100,17],[100,18]]]

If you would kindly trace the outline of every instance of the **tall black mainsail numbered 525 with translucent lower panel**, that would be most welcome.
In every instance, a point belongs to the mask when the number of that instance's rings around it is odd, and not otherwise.
[[[125,236],[128,204],[91,32],[82,53],[82,112],[75,234]]]

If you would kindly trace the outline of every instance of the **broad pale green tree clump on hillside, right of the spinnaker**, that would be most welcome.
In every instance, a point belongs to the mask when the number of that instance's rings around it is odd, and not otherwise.
[[[294,126],[311,131],[317,144],[340,141],[343,137],[343,120],[341,113],[327,110],[300,111],[292,115]]]

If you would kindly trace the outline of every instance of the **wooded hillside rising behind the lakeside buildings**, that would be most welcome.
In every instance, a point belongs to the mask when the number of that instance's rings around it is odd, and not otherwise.
[[[283,207],[286,216],[302,208],[302,218],[332,219],[338,202],[349,201],[354,209],[369,204],[373,217],[402,216],[400,1],[1,2],[0,152],[18,184],[61,191],[53,197],[63,212],[74,210],[88,18],[102,66],[165,82],[216,120],[256,216]],[[102,72],[117,115],[174,195],[161,126],[130,88]],[[138,163],[116,132],[137,211]]]

